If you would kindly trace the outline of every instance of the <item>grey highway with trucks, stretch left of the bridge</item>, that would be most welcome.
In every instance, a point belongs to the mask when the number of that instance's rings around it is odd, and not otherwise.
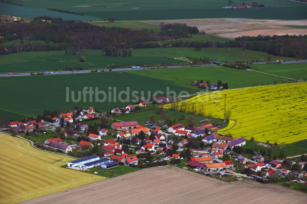
[[[178,67],[194,67],[194,66],[216,66],[216,64],[203,64],[203,65],[182,65],[182,66],[167,66],[167,68],[178,68]],[[113,71],[132,71],[132,70],[149,70],[158,68],[157,66],[154,67],[141,67],[141,68],[120,68],[120,69],[112,69]],[[159,68],[165,68],[165,66],[159,66]],[[54,74],[80,74],[80,73],[90,73],[92,70],[77,70],[77,71],[54,71],[52,74],[45,74],[45,75],[54,75]],[[98,70],[98,72],[109,72],[109,69],[102,69]],[[43,72],[44,73],[44,72]],[[37,75],[37,72],[33,73]],[[31,73],[18,73],[18,74],[0,74],[0,77],[18,77],[18,76],[29,76]]]

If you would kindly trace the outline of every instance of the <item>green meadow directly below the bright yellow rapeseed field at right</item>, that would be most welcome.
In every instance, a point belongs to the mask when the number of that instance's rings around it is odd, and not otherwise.
[[[265,149],[266,152],[269,149],[267,147],[258,145],[258,142],[251,142],[251,141],[246,141],[246,144],[243,147],[244,148],[251,148],[251,149],[258,149],[258,150]],[[307,153],[307,140],[301,140],[299,142],[294,142],[290,145],[283,147],[282,149],[273,149],[273,148],[270,148],[270,149],[272,151],[272,158],[273,158],[274,154],[278,157],[280,151],[284,151],[284,153],[286,154],[287,157],[302,155],[302,154]],[[243,156],[244,155],[246,155],[246,154],[243,153]]]

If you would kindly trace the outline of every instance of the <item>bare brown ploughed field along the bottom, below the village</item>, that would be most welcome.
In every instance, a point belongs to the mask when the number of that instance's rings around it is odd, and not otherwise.
[[[225,183],[173,166],[132,172],[23,203],[306,203],[307,194],[278,185]]]

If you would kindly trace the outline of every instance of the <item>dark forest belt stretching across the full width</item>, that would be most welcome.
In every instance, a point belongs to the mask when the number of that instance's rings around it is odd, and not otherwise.
[[[36,17],[30,23],[0,24],[0,43],[21,39],[19,43],[1,45],[0,55],[23,51],[66,50],[78,54],[80,50],[101,49],[104,55],[130,56],[129,49],[156,47],[239,48],[267,52],[272,55],[307,59],[307,35],[305,36],[242,36],[227,42],[176,40],[191,38],[199,33],[197,27],[185,24],[161,24],[161,31],[130,28],[106,28],[82,21],[63,21],[61,18]],[[173,40],[161,44],[160,40]],[[33,42],[34,41],[34,42]],[[45,41],[39,43],[37,41]],[[52,42],[52,43],[51,43]]]

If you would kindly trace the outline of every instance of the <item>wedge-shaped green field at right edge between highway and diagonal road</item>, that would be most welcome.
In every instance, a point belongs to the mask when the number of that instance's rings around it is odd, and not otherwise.
[[[307,78],[307,63],[296,64],[253,64],[256,71],[293,79]]]

